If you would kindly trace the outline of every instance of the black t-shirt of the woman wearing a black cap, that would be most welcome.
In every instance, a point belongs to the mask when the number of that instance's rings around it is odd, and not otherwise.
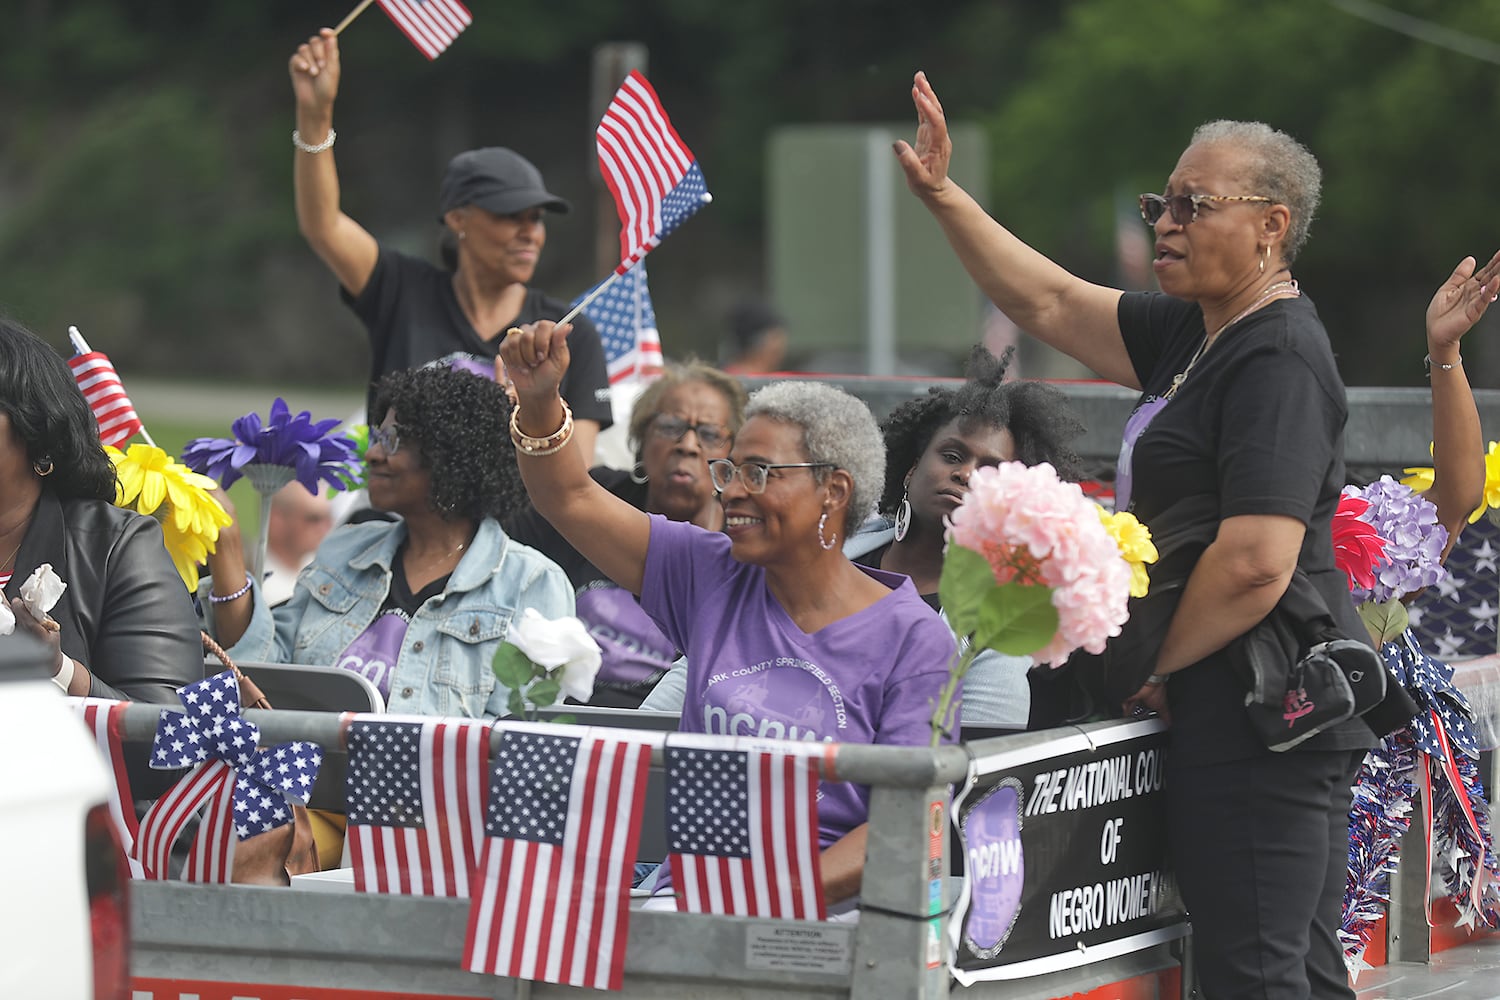
[[[500,337],[478,336],[464,315],[453,292],[453,274],[414,256],[380,249],[375,270],[358,297],[340,288],[344,303],[364,322],[370,337],[370,391],[368,406],[375,403],[374,382],[388,372],[422,367],[429,361],[453,355],[494,363],[500,352]],[[520,315],[506,328],[538,319],[561,319],[567,315],[564,301],[526,289]],[[562,376],[561,393],[578,420],[597,420],[600,429],[614,423],[609,406],[609,372],[598,331],[588,316],[573,321],[567,336],[572,360]]]

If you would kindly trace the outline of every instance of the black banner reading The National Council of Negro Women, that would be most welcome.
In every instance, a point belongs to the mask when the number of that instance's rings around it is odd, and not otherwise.
[[[1188,933],[1167,870],[1160,720],[980,757],[952,804],[964,861],[950,924],[963,985],[1022,979]]]

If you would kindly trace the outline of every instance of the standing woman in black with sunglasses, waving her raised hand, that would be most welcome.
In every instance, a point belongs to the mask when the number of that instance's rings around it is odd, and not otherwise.
[[[1292,273],[1318,202],[1317,160],[1262,123],[1200,126],[1166,193],[1140,198],[1161,292],[1122,292],[1071,274],[986,214],[948,177],[952,144],[922,73],[912,99],[915,145],[897,142],[896,156],[980,288],[1022,330],[1142,391],[1118,505],[1156,531],[1179,499],[1216,502],[1216,532],[1126,700],[1170,717],[1167,832],[1203,993],[1353,997],[1340,907],[1350,780],[1374,735],[1353,718],[1272,753],[1228,652],[1298,568],[1340,631],[1368,642],[1330,534],[1346,481],[1344,384]],[[1161,583],[1154,574],[1152,588]]]

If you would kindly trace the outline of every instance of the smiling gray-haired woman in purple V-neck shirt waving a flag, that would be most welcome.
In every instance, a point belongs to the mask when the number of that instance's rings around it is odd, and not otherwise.
[[[729,457],[710,463],[724,529],[648,514],[588,475],[558,396],[567,327],[506,334],[519,403],[512,438],[537,510],[590,562],[640,595],[687,654],[696,733],[921,744],[952,633],[910,580],[856,567],[840,543],[874,505],[885,448],[868,408],[819,382],[756,391]],[[824,892],[860,889],[868,790],[824,783]]]

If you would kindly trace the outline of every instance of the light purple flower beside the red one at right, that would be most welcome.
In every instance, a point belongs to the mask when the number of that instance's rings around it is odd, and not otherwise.
[[[1346,486],[1344,495],[1370,502],[1360,520],[1386,540],[1384,559],[1376,567],[1376,586],[1356,586],[1352,592],[1356,603],[1401,598],[1448,576],[1442,564],[1448,529],[1437,523],[1432,501],[1389,475],[1382,475],[1365,489]]]

